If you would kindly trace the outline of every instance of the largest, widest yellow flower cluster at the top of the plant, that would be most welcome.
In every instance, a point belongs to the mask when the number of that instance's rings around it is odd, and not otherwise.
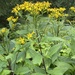
[[[36,3],[31,3],[31,2],[24,2],[23,4],[20,4],[15,6],[12,10],[12,13],[18,14],[19,11],[27,11],[31,13],[32,15],[34,14],[39,14],[42,11],[46,11],[50,7],[51,3],[49,2],[36,2]]]

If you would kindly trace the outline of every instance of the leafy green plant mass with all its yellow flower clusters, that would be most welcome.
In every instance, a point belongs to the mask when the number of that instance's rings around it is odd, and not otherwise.
[[[12,9],[0,30],[0,75],[74,75],[75,28],[65,8],[24,2]],[[48,16],[49,15],[49,16]]]

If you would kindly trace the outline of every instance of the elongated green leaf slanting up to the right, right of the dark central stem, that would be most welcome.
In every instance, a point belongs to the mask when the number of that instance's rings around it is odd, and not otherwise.
[[[55,53],[57,53],[60,50],[60,48],[61,48],[61,43],[52,46],[47,53],[47,57],[51,58]]]

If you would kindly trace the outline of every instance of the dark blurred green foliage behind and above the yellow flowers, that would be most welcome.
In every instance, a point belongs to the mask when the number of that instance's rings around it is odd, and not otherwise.
[[[49,1],[52,3],[52,7],[65,7],[66,12],[69,12],[69,7],[75,6],[75,0],[0,0],[0,27],[7,26],[6,18],[11,15],[12,8],[24,1]]]

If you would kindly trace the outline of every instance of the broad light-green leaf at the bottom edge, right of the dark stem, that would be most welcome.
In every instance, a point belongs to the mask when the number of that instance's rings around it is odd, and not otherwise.
[[[56,66],[53,70],[49,70],[51,75],[64,75],[64,73],[71,68],[71,65],[65,62],[56,62]]]

